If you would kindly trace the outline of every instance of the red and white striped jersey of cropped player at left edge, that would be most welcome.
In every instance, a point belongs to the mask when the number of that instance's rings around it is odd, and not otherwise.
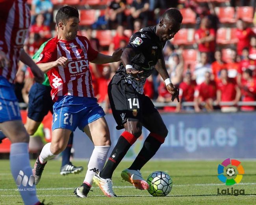
[[[14,83],[20,52],[30,26],[30,9],[26,0],[0,0],[0,50],[6,53],[9,67],[0,69],[0,75]]]

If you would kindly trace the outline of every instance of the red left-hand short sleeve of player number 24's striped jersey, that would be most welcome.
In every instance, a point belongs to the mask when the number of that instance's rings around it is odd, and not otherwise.
[[[57,60],[57,44],[54,42],[54,40],[50,40],[48,43],[46,43],[45,48],[39,55],[37,64],[52,62],[55,60]]]

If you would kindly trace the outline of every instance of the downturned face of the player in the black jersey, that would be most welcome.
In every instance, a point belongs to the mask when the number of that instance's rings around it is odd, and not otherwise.
[[[160,20],[159,22],[160,31],[158,37],[161,41],[165,42],[171,40],[174,35],[180,30],[181,24],[166,22],[165,20]]]

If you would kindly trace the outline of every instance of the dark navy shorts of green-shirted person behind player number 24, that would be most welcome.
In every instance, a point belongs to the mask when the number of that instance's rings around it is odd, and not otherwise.
[[[50,111],[53,113],[53,101],[50,86],[35,82],[28,93],[28,117],[36,122],[43,121]]]

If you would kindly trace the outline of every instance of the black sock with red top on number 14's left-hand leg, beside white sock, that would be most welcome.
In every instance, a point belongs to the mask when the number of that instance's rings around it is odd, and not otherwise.
[[[129,132],[125,131],[122,133],[113,151],[111,152],[105,167],[100,172],[100,177],[104,179],[112,178],[115,168],[117,168],[117,165],[119,165],[122,158],[125,156],[125,154],[136,141],[136,139],[137,138],[135,138],[135,136],[130,134]]]

